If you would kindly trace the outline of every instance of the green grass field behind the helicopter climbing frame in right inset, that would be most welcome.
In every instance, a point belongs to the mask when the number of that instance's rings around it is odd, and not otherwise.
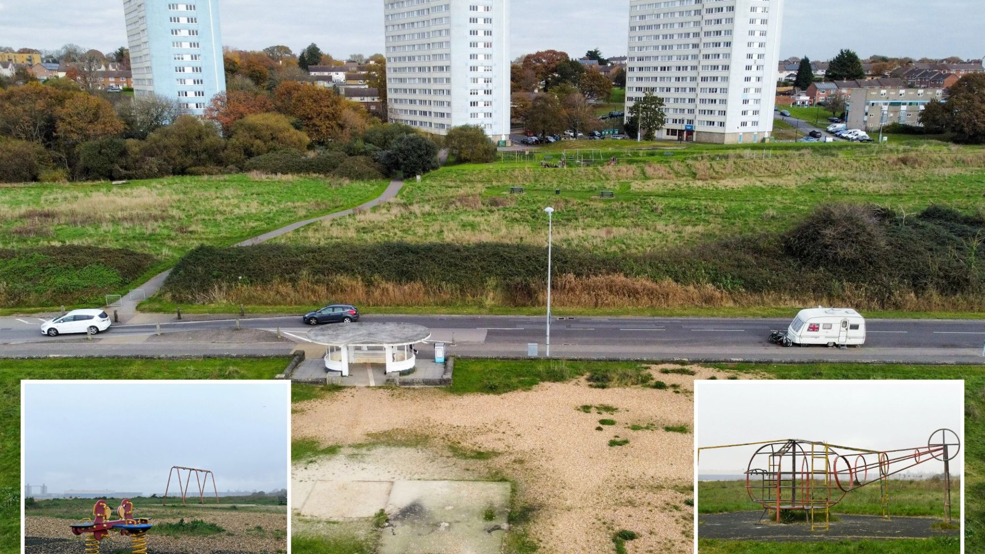
[[[952,517],[959,518],[961,483],[952,479],[951,492],[954,495]],[[944,480],[889,480],[889,514],[892,516],[927,516],[944,518],[944,503],[941,499],[947,491]],[[831,509],[832,514],[862,514],[876,516],[883,513],[879,483],[853,490]],[[697,484],[698,514],[717,514],[759,510],[758,505],[749,499],[745,481],[700,481]]]

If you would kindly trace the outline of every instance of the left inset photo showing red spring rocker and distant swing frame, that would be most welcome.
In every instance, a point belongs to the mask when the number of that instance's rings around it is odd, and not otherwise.
[[[22,381],[23,551],[288,551],[288,381]]]

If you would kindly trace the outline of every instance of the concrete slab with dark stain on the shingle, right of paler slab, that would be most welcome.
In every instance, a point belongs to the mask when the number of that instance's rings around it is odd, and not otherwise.
[[[496,554],[509,494],[501,482],[396,481],[386,507],[392,529],[384,529],[379,554]]]

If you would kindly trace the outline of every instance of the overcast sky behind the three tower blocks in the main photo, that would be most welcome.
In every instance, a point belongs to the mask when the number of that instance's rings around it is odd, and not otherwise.
[[[466,0],[454,0],[465,2]],[[511,56],[554,48],[579,57],[626,53],[627,0],[513,0]],[[315,42],[336,57],[383,50],[379,0],[222,0],[223,42],[260,49]],[[787,0],[780,55],[824,60],[839,48],[894,56],[981,57],[981,0]],[[0,0],[0,46],[126,43],[122,0]]]

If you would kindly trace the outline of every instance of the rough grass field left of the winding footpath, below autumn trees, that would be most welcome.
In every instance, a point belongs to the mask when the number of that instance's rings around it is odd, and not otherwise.
[[[0,313],[100,303],[199,244],[229,245],[358,206],[386,185],[249,174],[2,185]],[[45,249],[53,245],[122,250],[69,260],[71,251]]]

